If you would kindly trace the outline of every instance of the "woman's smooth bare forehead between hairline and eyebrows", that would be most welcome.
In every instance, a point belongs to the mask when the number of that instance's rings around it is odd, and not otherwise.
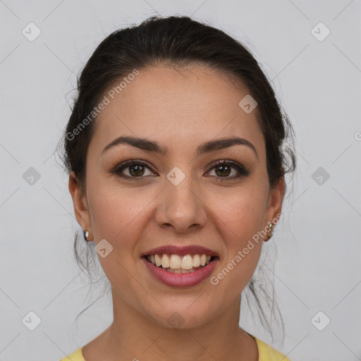
[[[235,88],[218,71],[145,68],[114,91],[121,81],[103,94],[109,104],[97,117],[93,135],[99,146],[120,135],[147,137],[169,148],[239,135],[262,147],[256,109],[247,114],[238,105],[247,89]]]

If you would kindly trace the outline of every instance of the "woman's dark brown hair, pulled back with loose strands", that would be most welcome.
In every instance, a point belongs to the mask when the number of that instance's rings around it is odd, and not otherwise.
[[[78,76],[78,94],[62,138],[62,158],[66,171],[75,172],[84,190],[87,148],[94,133],[96,117],[80,129],[81,123],[84,125],[84,119],[92,113],[109,87],[134,69],[140,71],[157,65],[175,68],[206,66],[246,87],[257,102],[257,121],[266,144],[269,186],[274,187],[286,173],[293,173],[296,165],[295,152],[291,144],[286,145],[288,140],[293,145],[293,128],[276,100],[269,80],[251,52],[224,31],[192,20],[188,16],[153,16],[140,25],[111,33],[95,49]],[[80,131],[73,136],[75,128]],[[78,240],[78,233],[75,233],[75,257],[80,267],[89,270],[90,246],[85,246],[87,260],[84,262],[79,256]],[[273,336],[262,310],[261,298],[265,296],[271,300],[272,306],[275,303],[274,298],[269,298],[262,287],[259,289],[264,294],[258,296],[253,277],[247,286],[259,306],[262,324],[267,326]]]

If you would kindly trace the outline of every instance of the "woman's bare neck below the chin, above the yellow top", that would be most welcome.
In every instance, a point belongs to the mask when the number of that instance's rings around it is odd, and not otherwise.
[[[207,323],[176,329],[142,314],[116,290],[112,295],[114,322],[99,336],[102,342],[97,342],[94,353],[83,348],[87,361],[95,360],[92,355],[106,361],[258,360],[255,340],[238,326],[240,298]]]

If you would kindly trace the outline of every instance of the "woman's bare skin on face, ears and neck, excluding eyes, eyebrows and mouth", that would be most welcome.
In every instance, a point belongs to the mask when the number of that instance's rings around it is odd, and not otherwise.
[[[188,288],[166,286],[140,258],[161,245],[202,245],[219,254],[214,276],[281,212],[284,180],[269,188],[256,111],[246,114],[238,106],[246,94],[209,68],[158,66],[142,69],[99,114],[87,152],[86,191],[74,173],[69,177],[75,216],[90,232],[88,240],[105,238],[114,247],[99,257],[111,283],[114,322],[82,348],[87,361],[258,360],[255,341],[238,322],[240,293],[255,271],[262,238],[216,286],[209,279]],[[120,135],[157,141],[169,152],[118,145],[102,154]],[[258,158],[245,145],[195,154],[203,142],[235,135],[252,142]],[[129,159],[152,169],[124,169],[124,176],[139,174],[135,181],[109,173]],[[222,178],[219,168],[209,167],[216,160],[234,161],[250,174],[231,179],[239,175],[231,168]],[[185,174],[179,185],[166,178],[174,166]],[[178,328],[167,322],[173,312],[183,317]]]

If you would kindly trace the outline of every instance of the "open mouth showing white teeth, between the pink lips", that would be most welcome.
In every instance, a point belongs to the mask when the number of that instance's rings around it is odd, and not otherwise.
[[[189,274],[206,267],[209,263],[218,259],[216,256],[210,255],[146,255],[143,258],[147,262],[152,263],[154,266],[164,269],[165,271],[173,274]]]

